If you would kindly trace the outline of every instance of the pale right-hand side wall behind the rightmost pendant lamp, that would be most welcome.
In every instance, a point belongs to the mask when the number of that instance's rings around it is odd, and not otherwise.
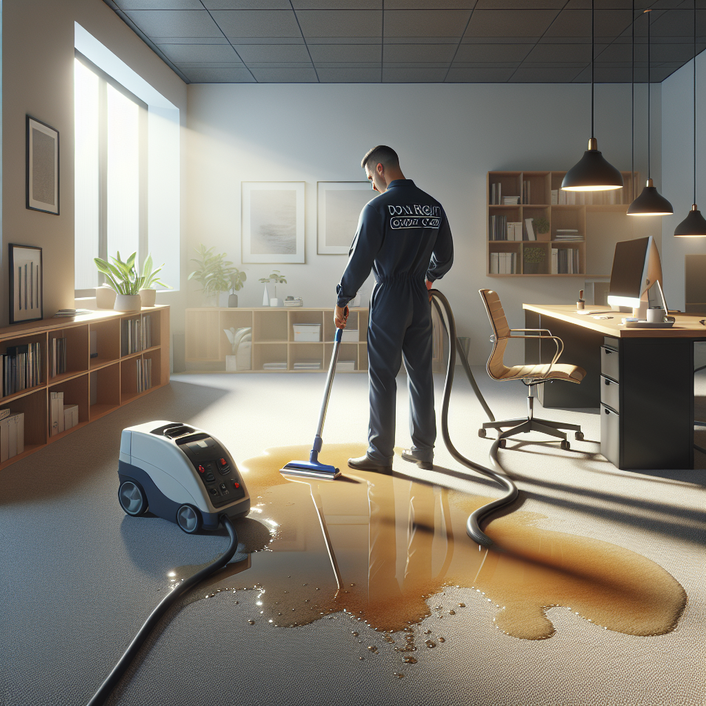
[[[696,203],[706,213],[706,53],[696,57]],[[670,308],[684,309],[684,262],[688,253],[706,253],[706,238],[675,238],[674,229],[693,203],[693,61],[662,82],[661,193],[674,206],[662,219],[664,294]],[[706,273],[704,273],[706,277]]]

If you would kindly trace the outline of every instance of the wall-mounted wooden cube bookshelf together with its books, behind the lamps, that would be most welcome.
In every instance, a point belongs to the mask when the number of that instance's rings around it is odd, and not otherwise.
[[[488,172],[486,273],[491,277],[573,277],[590,272],[599,259],[595,229],[587,213],[626,213],[633,201],[630,172],[614,191],[561,191],[566,172]],[[635,173],[634,184],[639,184]],[[549,230],[539,233],[543,219]],[[627,225],[626,225],[627,227]],[[626,237],[631,237],[626,234]],[[595,243],[595,244],[594,244]],[[597,252],[592,253],[592,248]]]

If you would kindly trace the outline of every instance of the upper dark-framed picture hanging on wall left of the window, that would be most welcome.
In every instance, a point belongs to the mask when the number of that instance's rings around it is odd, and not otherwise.
[[[59,215],[59,131],[29,115],[27,208]]]

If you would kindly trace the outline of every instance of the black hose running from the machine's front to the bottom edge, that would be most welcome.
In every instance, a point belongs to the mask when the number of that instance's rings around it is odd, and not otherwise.
[[[155,628],[157,623],[160,621],[160,618],[162,618],[167,610],[169,610],[177,598],[196,586],[196,584],[201,583],[201,581],[208,578],[212,573],[215,573],[215,571],[223,568],[233,558],[233,555],[238,549],[238,533],[235,531],[235,527],[233,527],[233,523],[227,515],[220,516],[220,523],[226,528],[230,537],[228,549],[226,549],[224,554],[221,554],[221,556],[219,556],[215,561],[201,569],[201,571],[197,571],[193,576],[181,581],[177,584],[177,587],[175,587],[174,590],[164,596],[160,603],[157,604],[157,607],[152,611],[152,613],[150,613],[147,620],[143,623],[143,626],[140,628],[137,635],[135,635],[130,645],[128,645],[127,650],[125,650],[123,656],[113,667],[106,680],[100,685],[100,689],[97,690],[95,695],[93,695],[93,698],[88,702],[88,706],[102,706],[105,703],[113,688],[125,673],[125,670],[128,666],[130,666],[133,657],[135,657],[140,650],[140,647],[142,647],[143,642],[145,642],[148,635],[152,632],[152,629]]]

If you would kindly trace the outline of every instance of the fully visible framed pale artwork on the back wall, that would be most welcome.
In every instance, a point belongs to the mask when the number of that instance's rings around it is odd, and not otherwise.
[[[242,200],[242,262],[304,263],[304,181],[244,181]]]

